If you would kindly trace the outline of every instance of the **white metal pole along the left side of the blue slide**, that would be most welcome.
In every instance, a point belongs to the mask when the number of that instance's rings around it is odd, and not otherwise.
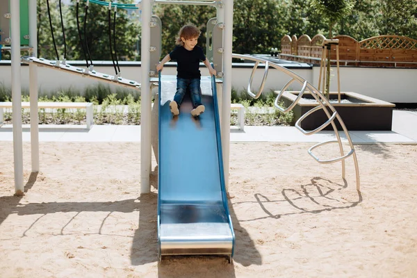
[[[151,55],[151,22],[152,0],[142,1],[142,42],[141,42],[141,120],[140,120],[140,193],[149,193],[151,186],[151,92],[149,86],[149,70]]]

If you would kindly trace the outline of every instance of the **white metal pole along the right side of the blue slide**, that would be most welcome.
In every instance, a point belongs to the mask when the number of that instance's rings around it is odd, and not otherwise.
[[[222,101],[222,149],[224,183],[229,187],[229,147],[230,147],[230,102],[231,102],[231,54],[233,43],[233,0],[224,1],[223,33],[223,101]]]

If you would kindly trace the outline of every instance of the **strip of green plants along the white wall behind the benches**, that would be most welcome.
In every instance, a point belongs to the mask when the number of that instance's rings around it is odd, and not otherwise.
[[[0,101],[10,101],[11,90],[0,84]],[[92,102],[94,104],[95,124],[140,124],[140,97],[136,91],[129,89],[117,89],[112,92],[106,85],[90,86],[80,92],[69,88],[57,92],[41,92],[39,101],[57,102]],[[29,101],[28,91],[22,90],[22,101]],[[252,99],[245,92],[232,89],[231,102],[245,106],[245,125],[289,125],[293,120],[293,113],[281,113],[274,109],[272,113],[266,113],[268,108],[274,106],[274,92],[263,94],[259,99]],[[10,109],[4,113],[5,123],[11,123],[12,113]],[[232,111],[230,122],[237,124],[237,114]],[[22,109],[22,122],[30,122],[29,109]],[[40,124],[85,124],[85,110],[69,110],[65,108],[39,110]]]

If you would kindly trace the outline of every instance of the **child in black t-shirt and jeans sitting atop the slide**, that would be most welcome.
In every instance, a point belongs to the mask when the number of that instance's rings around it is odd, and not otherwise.
[[[191,115],[197,117],[204,112],[205,107],[202,105],[202,94],[200,92],[201,74],[199,71],[199,61],[203,61],[210,74],[216,74],[208,59],[204,56],[203,49],[196,46],[200,33],[201,31],[193,25],[187,24],[183,26],[175,42],[177,47],[170,54],[167,54],[161,60],[161,63],[156,66],[156,70],[159,72],[169,60],[177,60],[177,92],[175,93],[174,100],[170,103],[170,110],[174,116],[179,115],[179,107],[186,95],[187,89],[190,90],[191,101],[193,102]]]

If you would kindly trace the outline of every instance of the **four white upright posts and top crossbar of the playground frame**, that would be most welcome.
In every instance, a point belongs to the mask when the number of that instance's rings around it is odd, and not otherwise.
[[[104,6],[103,1],[91,0],[91,3],[99,3]],[[222,47],[222,74],[223,74],[223,89],[222,103],[227,103],[231,98],[231,55],[232,55],[232,35],[233,35],[233,1],[215,0],[212,2],[202,1],[154,1],[142,0],[140,1],[140,9],[142,11],[142,67],[140,74],[141,79],[141,169],[140,169],[140,193],[149,193],[150,191],[150,174],[151,174],[151,104],[152,97],[150,92],[150,77],[151,60],[150,60],[150,24],[152,23],[152,5],[154,3],[161,4],[184,4],[184,5],[205,5],[218,7],[217,19],[218,22],[224,24],[224,41]],[[33,60],[26,60],[29,64],[29,95],[31,104],[31,172],[39,172],[39,121],[38,121],[38,70],[37,65],[33,63],[38,60],[38,41],[37,41],[37,2],[28,1],[28,22],[29,22],[29,48],[32,52]],[[108,5],[108,3],[107,3]],[[138,8],[137,5],[127,6],[126,4],[117,4],[117,8]],[[15,195],[24,194],[24,180],[23,180],[23,136],[22,136],[22,86],[21,86],[21,48],[20,48],[20,22],[19,15],[20,3],[19,1],[10,1],[10,37],[13,38],[11,42],[11,63],[12,63],[12,101],[13,101],[13,157],[15,170]],[[227,16],[226,16],[227,15]],[[39,62],[39,61],[38,61]],[[42,63],[40,63],[42,64]],[[47,65],[44,63],[44,65]],[[50,65],[49,65],[50,66]],[[54,65],[55,66],[55,65]],[[61,69],[68,70],[68,69]],[[74,69],[70,69],[74,73]],[[104,81],[108,79],[104,78]],[[118,79],[116,80],[118,81]],[[136,85],[136,84],[135,84]],[[230,132],[230,106],[223,105],[221,109],[221,126],[222,126],[222,147],[224,160],[224,176],[225,183],[228,184],[229,176],[229,132]]]

